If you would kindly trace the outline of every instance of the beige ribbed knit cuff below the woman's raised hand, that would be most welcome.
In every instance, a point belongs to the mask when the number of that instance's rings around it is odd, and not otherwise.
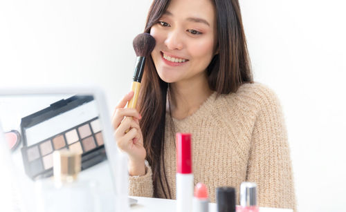
[[[129,195],[153,197],[152,168],[145,162],[145,175],[129,177]]]

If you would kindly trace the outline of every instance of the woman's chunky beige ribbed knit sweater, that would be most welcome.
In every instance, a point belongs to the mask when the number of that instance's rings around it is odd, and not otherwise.
[[[175,133],[192,133],[194,184],[208,187],[215,202],[218,186],[242,182],[257,183],[260,206],[295,209],[295,193],[289,145],[280,102],[275,93],[262,84],[244,84],[237,93],[213,93],[200,108],[185,119],[172,120],[166,114],[165,169],[172,198],[176,195]],[[162,169],[162,168],[161,168]],[[152,170],[130,177],[129,193],[153,196]],[[167,191],[167,190],[166,190]],[[159,197],[164,197],[158,189]]]

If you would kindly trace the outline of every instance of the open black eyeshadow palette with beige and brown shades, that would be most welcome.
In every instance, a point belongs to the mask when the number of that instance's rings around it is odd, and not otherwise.
[[[81,153],[82,170],[107,158],[93,99],[71,97],[64,99],[64,104],[52,105],[21,122],[26,144],[21,148],[24,167],[34,180],[53,175],[53,152],[57,150]]]

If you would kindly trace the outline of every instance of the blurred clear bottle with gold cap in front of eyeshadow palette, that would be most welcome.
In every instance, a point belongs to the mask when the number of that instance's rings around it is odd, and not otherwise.
[[[78,180],[81,168],[80,153],[55,151],[53,164],[53,178],[35,182],[38,211],[99,211],[96,183]]]

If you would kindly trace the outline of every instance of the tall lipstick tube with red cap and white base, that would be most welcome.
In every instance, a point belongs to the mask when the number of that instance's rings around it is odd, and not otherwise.
[[[176,133],[176,211],[192,211],[194,175],[192,173],[191,134]]]

